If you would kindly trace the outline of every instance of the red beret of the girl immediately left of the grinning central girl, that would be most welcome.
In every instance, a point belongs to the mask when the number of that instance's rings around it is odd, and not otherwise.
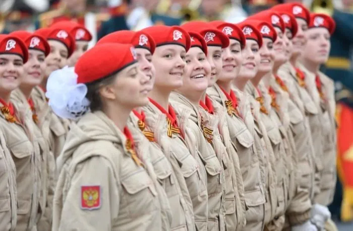
[[[183,46],[186,51],[190,49],[189,33],[179,26],[152,26],[141,30],[141,32],[148,33],[156,46],[177,44]]]

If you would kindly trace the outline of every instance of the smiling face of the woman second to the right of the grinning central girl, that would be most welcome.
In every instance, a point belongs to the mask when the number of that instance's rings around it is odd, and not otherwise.
[[[239,74],[243,62],[240,42],[235,39],[229,41],[229,46],[222,50],[222,72],[218,78],[221,82],[234,80]]]

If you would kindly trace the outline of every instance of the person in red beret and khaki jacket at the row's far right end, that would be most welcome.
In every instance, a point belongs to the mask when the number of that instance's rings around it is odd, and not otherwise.
[[[323,168],[320,171],[320,191],[315,194],[314,202],[328,206],[336,184],[335,99],[333,82],[319,71],[319,67],[327,61],[335,22],[322,14],[312,14],[310,18],[308,41],[301,61],[307,90],[319,111],[321,124],[322,152],[316,149],[316,154],[322,159]]]

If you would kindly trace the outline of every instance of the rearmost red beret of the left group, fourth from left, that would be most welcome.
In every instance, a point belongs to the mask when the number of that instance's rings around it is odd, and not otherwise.
[[[86,27],[72,21],[60,21],[51,25],[50,28],[59,28],[68,31],[76,41],[89,42],[92,40],[92,35]]]

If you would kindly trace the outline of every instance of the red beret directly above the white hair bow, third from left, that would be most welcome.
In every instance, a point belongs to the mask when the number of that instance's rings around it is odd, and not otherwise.
[[[75,50],[74,38],[64,29],[59,28],[42,28],[34,32],[37,35],[41,35],[46,40],[56,40],[63,43],[68,48],[70,57]]]

